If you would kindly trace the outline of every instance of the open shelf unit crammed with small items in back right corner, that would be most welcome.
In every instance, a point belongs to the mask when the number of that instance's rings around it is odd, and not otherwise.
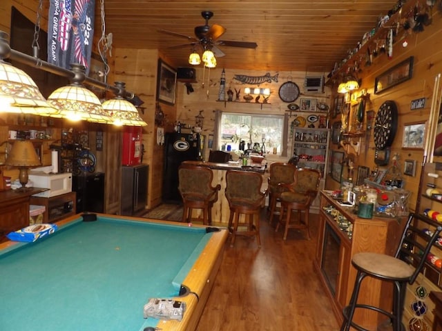
[[[309,119],[310,116],[307,116]],[[298,168],[313,168],[321,173],[319,190],[325,188],[327,159],[329,154],[330,130],[327,128],[294,127],[292,136],[292,156],[298,156]],[[318,212],[319,197],[311,203],[311,211]]]

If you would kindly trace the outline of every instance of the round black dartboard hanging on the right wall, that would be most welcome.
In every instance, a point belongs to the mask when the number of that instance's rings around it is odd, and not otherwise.
[[[377,150],[392,146],[398,126],[398,110],[394,101],[385,101],[374,120],[374,145]]]

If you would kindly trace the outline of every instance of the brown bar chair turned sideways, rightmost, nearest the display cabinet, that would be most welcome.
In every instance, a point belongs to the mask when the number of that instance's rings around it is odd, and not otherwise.
[[[295,181],[292,184],[280,184],[287,189],[280,194],[281,210],[279,222],[275,231],[279,230],[279,225],[285,223],[284,240],[287,239],[289,229],[307,229],[307,238],[310,239],[309,209],[311,202],[318,194],[320,172],[316,169],[298,168],[295,172]],[[296,210],[297,221],[291,223],[291,211]],[[285,212],[285,221],[283,220]],[[302,217],[302,213],[304,217]]]

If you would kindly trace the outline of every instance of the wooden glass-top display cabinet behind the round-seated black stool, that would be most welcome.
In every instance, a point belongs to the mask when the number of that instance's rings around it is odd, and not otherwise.
[[[405,225],[405,219],[374,217],[361,219],[352,208],[338,205],[330,191],[320,192],[319,232],[314,265],[332,300],[336,319],[342,323],[342,310],[349,303],[356,279],[352,257],[358,252],[393,255]],[[361,286],[359,302],[390,310],[391,284],[368,277]],[[356,311],[354,321],[369,330],[385,320],[371,311]]]

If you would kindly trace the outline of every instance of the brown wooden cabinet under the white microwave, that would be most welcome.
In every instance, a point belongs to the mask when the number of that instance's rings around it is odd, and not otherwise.
[[[30,197],[31,205],[44,205],[43,223],[54,223],[75,214],[77,201],[75,192],[60,194],[55,197]]]

